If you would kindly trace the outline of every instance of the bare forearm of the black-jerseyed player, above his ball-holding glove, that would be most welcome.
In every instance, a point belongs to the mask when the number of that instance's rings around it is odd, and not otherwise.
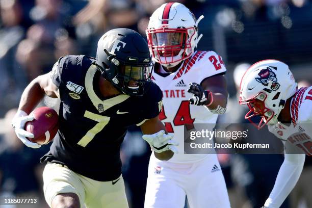
[[[40,87],[38,77],[34,79],[23,91],[18,110],[22,110],[30,114],[44,97],[44,90]]]

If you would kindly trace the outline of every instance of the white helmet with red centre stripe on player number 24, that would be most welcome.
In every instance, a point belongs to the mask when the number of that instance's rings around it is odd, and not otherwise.
[[[146,29],[152,59],[165,67],[176,66],[194,53],[198,41],[194,14],[183,4],[167,3],[154,11]]]

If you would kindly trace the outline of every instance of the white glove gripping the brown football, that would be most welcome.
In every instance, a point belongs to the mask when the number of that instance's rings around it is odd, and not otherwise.
[[[12,120],[12,126],[14,128],[15,134],[24,143],[24,145],[31,147],[31,148],[39,148],[41,147],[40,144],[34,143],[29,141],[26,137],[34,138],[34,135],[30,132],[24,130],[25,123],[27,121],[34,120],[33,114],[27,115],[26,112],[18,110]]]

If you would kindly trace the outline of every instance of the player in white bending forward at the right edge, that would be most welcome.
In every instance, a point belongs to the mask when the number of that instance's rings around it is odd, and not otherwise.
[[[252,122],[253,116],[261,116],[262,120],[254,125],[262,128],[267,124],[269,131],[286,144],[284,162],[264,206],[279,207],[299,179],[305,160],[303,153],[312,154],[312,87],[297,89],[288,65],[264,60],[244,74],[240,104],[250,109],[246,119]],[[299,148],[303,151],[298,151]]]

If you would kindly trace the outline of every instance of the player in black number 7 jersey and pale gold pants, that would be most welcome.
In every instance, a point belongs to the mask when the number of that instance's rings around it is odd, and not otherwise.
[[[12,121],[18,138],[44,95],[60,98],[59,131],[43,172],[44,195],[51,207],[128,207],[121,176],[120,145],[127,128],[141,127],[160,160],[169,160],[177,143],[158,118],[162,91],[150,80],[152,62],[144,38],[114,29],[98,41],[96,59],[65,56],[51,72],[25,88]]]

